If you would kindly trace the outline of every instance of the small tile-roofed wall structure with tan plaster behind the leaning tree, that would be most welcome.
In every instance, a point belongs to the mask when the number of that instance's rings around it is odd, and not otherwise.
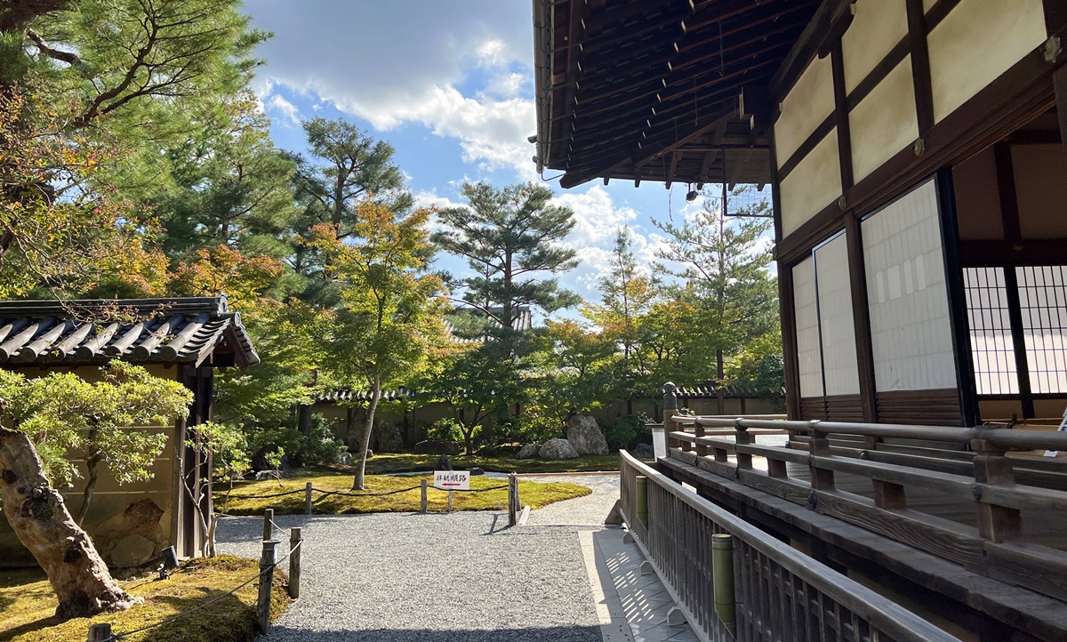
[[[112,359],[181,382],[193,391],[193,403],[188,417],[174,426],[136,427],[168,435],[153,464],[153,479],[118,485],[101,468],[82,527],[112,566],[139,566],[168,546],[174,546],[179,557],[194,557],[207,533],[193,497],[205,514],[211,512],[209,487],[202,486],[202,480],[210,479],[211,466],[209,458],[187,447],[187,442],[196,438],[197,424],[212,419],[214,369],[254,366],[259,355],[225,295],[0,302],[0,368],[27,376],[48,370],[75,372],[96,381],[99,367]],[[75,463],[81,464],[77,459]],[[84,484],[78,479],[61,488],[71,513],[82,501]],[[30,565],[33,558],[0,517],[0,567]]]

